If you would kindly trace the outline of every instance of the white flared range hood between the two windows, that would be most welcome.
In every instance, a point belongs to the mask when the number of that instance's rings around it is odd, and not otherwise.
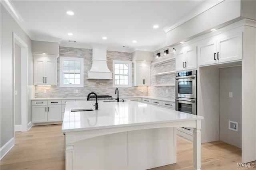
[[[88,79],[112,79],[107,65],[107,48],[92,48],[92,67],[88,71]]]

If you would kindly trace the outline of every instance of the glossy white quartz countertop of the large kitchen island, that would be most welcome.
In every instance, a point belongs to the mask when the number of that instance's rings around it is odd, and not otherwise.
[[[101,100],[98,101],[98,110],[95,110],[93,105],[95,101],[67,102],[62,132],[203,119],[201,116],[130,100],[126,102]],[[72,112],[71,109],[93,109],[93,111]]]

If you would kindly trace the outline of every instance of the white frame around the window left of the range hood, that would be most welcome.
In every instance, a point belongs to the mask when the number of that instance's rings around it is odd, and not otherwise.
[[[63,84],[63,61],[80,61],[80,84]],[[78,57],[60,57],[60,87],[84,87],[84,59]]]

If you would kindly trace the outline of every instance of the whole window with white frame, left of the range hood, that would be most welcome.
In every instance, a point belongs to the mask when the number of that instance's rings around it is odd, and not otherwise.
[[[60,87],[84,87],[84,59],[60,57]]]

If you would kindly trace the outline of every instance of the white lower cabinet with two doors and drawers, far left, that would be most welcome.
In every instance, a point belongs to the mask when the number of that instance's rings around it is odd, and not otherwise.
[[[32,123],[62,121],[61,100],[32,101]]]

